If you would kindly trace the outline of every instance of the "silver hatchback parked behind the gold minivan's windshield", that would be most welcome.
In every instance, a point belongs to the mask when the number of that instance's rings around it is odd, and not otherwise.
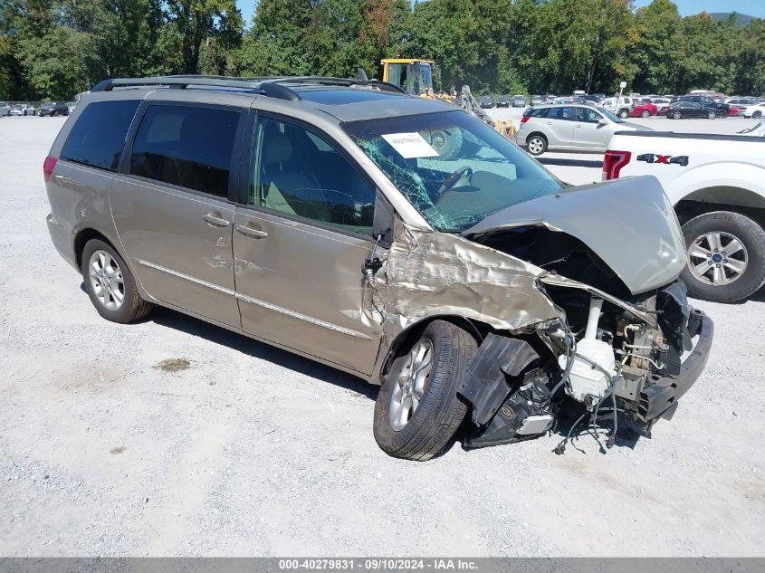
[[[616,131],[650,128],[617,118],[610,111],[587,105],[546,105],[527,110],[515,142],[539,156],[548,149],[606,151]]]

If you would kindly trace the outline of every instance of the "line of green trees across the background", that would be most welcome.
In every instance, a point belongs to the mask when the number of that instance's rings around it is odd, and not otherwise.
[[[0,0],[0,99],[71,100],[108,77],[379,76],[435,60],[477,93],[765,93],[765,20],[681,17],[670,0]]]

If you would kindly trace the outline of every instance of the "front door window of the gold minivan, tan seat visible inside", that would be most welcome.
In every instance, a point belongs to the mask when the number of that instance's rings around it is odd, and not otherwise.
[[[255,144],[253,205],[372,234],[375,191],[330,141],[308,129],[262,119]]]

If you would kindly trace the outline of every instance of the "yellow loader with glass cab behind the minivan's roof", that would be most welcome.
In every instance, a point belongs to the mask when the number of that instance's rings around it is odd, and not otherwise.
[[[459,92],[436,94],[433,90],[435,62],[416,58],[385,58],[380,63],[383,66],[383,81],[392,83],[410,95],[428,100],[447,101],[481,119],[506,138],[512,139],[515,136],[516,129],[512,121],[490,118],[473,97],[470,86],[464,85]]]

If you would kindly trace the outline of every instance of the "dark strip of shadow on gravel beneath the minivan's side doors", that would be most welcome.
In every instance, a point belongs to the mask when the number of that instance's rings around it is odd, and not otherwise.
[[[282,368],[289,368],[306,376],[319,378],[323,382],[329,382],[335,386],[358,392],[362,396],[367,396],[370,400],[374,400],[378,396],[378,387],[368,384],[360,378],[335,368],[324,366],[308,358],[302,358],[292,354],[292,352],[277,349],[264,342],[248,338],[244,334],[237,334],[231,330],[209,324],[204,320],[195,319],[176,310],[155,307],[145,320],[147,322],[155,322],[168,329],[176,329],[193,336],[198,336],[254,358],[268,360]]]

